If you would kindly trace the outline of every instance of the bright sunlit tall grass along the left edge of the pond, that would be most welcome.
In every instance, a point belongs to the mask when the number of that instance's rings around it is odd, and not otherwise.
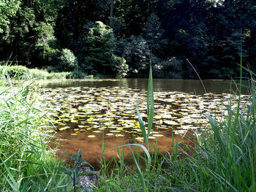
[[[6,66],[7,67],[7,66]],[[0,71],[0,191],[69,191],[50,136],[42,124],[38,93],[30,82],[12,85],[8,70]]]

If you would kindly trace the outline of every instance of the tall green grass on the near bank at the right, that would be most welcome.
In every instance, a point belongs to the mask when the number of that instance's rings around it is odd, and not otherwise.
[[[173,142],[173,153],[159,158],[155,154],[151,156],[157,166],[151,165],[150,169],[140,166],[141,156],[132,153],[138,171],[127,168],[121,178],[116,174],[105,177],[108,182],[99,183],[97,191],[256,191],[255,74],[246,71],[251,75],[249,91],[252,93],[247,104],[241,103],[240,80],[239,95],[236,100],[230,100],[227,117],[217,121],[206,114],[211,126],[208,131],[195,132],[195,146],[187,147],[190,151],[182,150],[184,146],[177,139]],[[237,107],[232,110],[235,104]],[[138,117],[148,147],[139,112]],[[143,159],[147,164],[149,158]]]

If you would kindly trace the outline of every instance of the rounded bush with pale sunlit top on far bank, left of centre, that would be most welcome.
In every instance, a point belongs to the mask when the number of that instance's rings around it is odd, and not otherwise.
[[[87,37],[88,56],[85,69],[92,69],[95,74],[117,74],[124,77],[127,73],[127,65],[124,58],[115,55],[116,37],[113,30],[104,23],[97,21],[97,26],[89,29]]]

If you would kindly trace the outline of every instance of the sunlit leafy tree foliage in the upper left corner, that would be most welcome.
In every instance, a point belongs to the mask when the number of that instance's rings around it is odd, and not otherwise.
[[[53,10],[58,9],[58,1],[8,1],[12,2],[12,17],[7,20],[10,25],[5,34],[1,35],[1,59],[15,55],[19,64],[28,66],[48,66],[54,62],[59,47],[54,37],[56,12]]]

